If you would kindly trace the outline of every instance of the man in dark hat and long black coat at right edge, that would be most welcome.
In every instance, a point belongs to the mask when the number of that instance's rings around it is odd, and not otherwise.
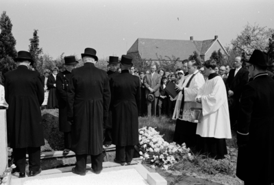
[[[247,62],[249,75],[240,97],[236,175],[249,184],[274,182],[274,81],[267,75],[269,58],[256,49]]]

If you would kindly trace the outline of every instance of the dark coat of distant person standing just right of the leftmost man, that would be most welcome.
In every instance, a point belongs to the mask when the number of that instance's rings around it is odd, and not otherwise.
[[[56,80],[53,77],[53,75],[49,75],[49,78],[47,79],[47,89],[49,90],[49,99],[47,101],[48,108],[55,108],[58,106],[58,99],[56,96],[56,87],[54,86],[56,84]]]

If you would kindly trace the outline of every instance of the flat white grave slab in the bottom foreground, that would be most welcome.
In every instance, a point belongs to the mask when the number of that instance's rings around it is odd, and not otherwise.
[[[105,162],[104,162],[105,163]],[[114,162],[106,162],[113,163]],[[112,165],[110,165],[112,166]],[[35,177],[25,177],[21,179],[12,179],[12,185],[33,185],[33,184],[51,184],[51,185],[70,185],[70,184],[149,184],[149,185],[166,185],[167,182],[158,173],[149,173],[141,164],[118,166],[104,168],[99,175],[95,174],[87,167],[85,176],[75,175],[66,172],[72,167],[62,169],[52,169],[42,171],[41,175]],[[56,173],[60,171],[60,173]],[[93,182],[93,183],[92,183]]]

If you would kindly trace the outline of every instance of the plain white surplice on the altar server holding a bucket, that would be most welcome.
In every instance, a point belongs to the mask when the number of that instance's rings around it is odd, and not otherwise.
[[[196,134],[210,138],[232,138],[225,84],[220,76],[208,79],[199,89],[203,118]]]

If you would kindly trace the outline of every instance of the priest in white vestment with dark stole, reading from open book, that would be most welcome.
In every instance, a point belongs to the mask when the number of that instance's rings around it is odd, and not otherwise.
[[[195,101],[199,88],[205,80],[199,73],[198,62],[188,62],[188,75],[175,88],[181,90],[177,95],[177,101],[173,112],[173,119],[176,119],[173,141],[179,145],[186,143],[186,147],[195,147],[197,143],[197,123],[192,119],[190,108],[201,108],[201,104]]]

